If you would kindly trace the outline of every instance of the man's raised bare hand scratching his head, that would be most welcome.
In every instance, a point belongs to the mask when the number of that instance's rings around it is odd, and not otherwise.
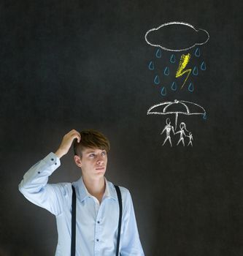
[[[80,143],[81,135],[80,132],[77,132],[75,129],[72,129],[72,131],[63,136],[61,145],[59,146],[55,154],[59,158],[63,157],[63,155],[69,151],[69,148],[72,146],[72,142],[74,139],[77,139],[77,142]]]

